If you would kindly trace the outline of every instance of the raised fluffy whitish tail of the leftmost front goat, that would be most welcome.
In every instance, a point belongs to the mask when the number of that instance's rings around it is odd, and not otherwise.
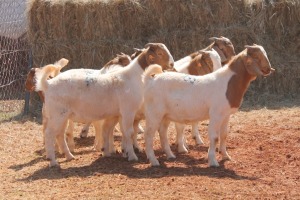
[[[60,59],[54,64],[49,64],[43,68],[36,69],[35,72],[35,91],[45,91],[48,87],[47,80],[51,76],[52,78],[60,73],[60,70],[68,64],[68,60],[65,58]]]

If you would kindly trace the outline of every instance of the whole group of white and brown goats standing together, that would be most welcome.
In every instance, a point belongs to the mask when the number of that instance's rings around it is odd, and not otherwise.
[[[104,156],[115,152],[113,130],[119,122],[123,155],[131,161],[138,160],[134,148],[142,151],[137,133],[144,131],[139,122],[145,119],[145,152],[151,166],[158,166],[153,151],[156,131],[167,158],[175,158],[167,136],[170,122],[175,122],[178,152],[187,152],[184,125],[191,123],[197,144],[203,144],[197,124],[209,119],[209,166],[219,166],[215,155],[218,143],[222,158],[230,159],[226,151],[229,117],[240,107],[250,82],[274,69],[260,45],[246,45],[236,55],[228,38],[210,40],[205,49],[176,62],[164,44],[149,43],[131,56],[117,55],[100,70],[60,73],[68,64],[65,58],[31,69],[25,86],[43,100],[43,134],[50,166],[58,165],[56,149],[67,160],[74,158],[73,121],[86,123],[85,129],[93,124],[95,149]]]

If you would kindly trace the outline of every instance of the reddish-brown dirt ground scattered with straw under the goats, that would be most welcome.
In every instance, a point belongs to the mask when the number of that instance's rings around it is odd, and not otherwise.
[[[49,168],[42,126],[22,118],[0,124],[0,199],[300,199],[300,107],[246,108],[230,120],[228,153],[232,161],[207,166],[208,122],[199,123],[205,145],[197,146],[186,128],[189,153],[167,160],[158,136],[161,167],[150,167],[145,153],[138,162],[121,154],[110,158],[93,150],[94,130],[78,137],[76,160]],[[174,125],[169,128],[173,152]],[[115,145],[120,149],[120,133]],[[144,147],[143,135],[139,135]],[[218,160],[221,158],[218,157]]]

